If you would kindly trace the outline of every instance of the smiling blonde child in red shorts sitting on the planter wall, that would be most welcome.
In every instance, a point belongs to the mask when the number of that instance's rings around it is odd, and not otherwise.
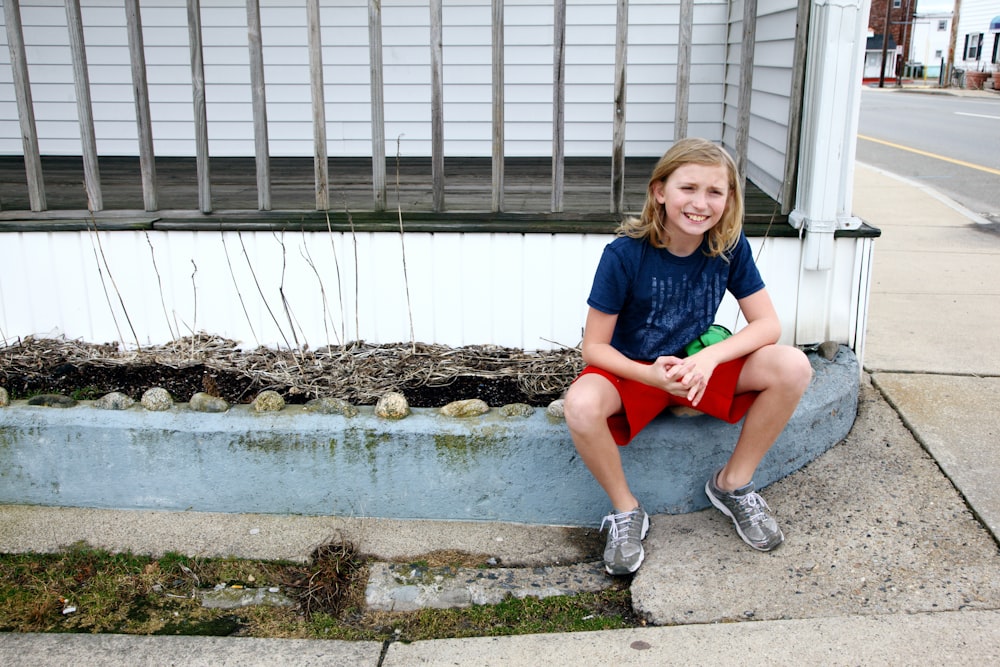
[[[610,574],[635,572],[649,517],[629,490],[619,445],[664,408],[683,405],[735,423],[725,466],[705,484],[739,536],[769,551],[784,536],[754,491],[753,474],[812,377],[797,348],[776,345],[781,325],[742,231],[743,194],[729,154],[704,139],[678,141],[649,179],[639,219],[604,249],[587,304],[587,363],[566,394],[576,449],[612,511],[604,550]],[[726,290],[747,326],[685,356],[712,324]]]

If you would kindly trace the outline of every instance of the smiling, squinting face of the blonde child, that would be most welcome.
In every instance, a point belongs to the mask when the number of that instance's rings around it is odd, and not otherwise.
[[[653,186],[653,196],[663,205],[670,245],[693,252],[705,232],[722,219],[729,201],[729,174],[721,164],[684,164]]]

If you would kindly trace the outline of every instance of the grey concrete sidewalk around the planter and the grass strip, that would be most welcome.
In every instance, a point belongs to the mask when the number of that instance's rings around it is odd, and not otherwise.
[[[858,165],[879,227],[859,414],[848,438],[768,487],[787,536],[760,554],[712,510],[653,517],[633,603],[659,627],[412,644],[0,635],[5,665],[993,664],[1000,660],[1000,235],[935,193]],[[88,512],[81,515],[79,512]],[[431,548],[571,562],[579,530],[510,524],[3,508],[0,548],[305,557],[334,530],[371,553]],[[79,539],[79,537],[77,538]],[[72,540],[69,540],[72,541]],[[149,548],[143,548],[143,544]],[[434,545],[430,547],[429,545]],[[752,656],[752,657],[751,657]]]

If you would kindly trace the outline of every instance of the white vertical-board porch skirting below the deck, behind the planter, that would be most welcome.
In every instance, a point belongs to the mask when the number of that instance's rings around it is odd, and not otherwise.
[[[527,350],[575,346],[608,235],[271,232],[7,233],[0,341],[62,334],[126,347],[197,331],[246,347],[363,339]],[[796,341],[797,239],[751,239]],[[854,345],[871,239],[839,239],[823,339]],[[404,265],[405,256],[405,265]],[[357,260],[355,260],[357,258]],[[859,278],[859,276],[861,278]],[[739,328],[727,296],[718,320]],[[412,318],[412,319],[411,319]],[[412,336],[411,336],[412,325]]]

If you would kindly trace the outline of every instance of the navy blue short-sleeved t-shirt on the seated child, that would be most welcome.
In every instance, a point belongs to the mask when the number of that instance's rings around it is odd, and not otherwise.
[[[604,248],[587,305],[618,315],[611,345],[630,359],[682,355],[715,320],[729,290],[742,299],[764,288],[750,243],[740,234],[725,257],[687,257],[621,236]],[[728,259],[728,261],[727,261]]]

